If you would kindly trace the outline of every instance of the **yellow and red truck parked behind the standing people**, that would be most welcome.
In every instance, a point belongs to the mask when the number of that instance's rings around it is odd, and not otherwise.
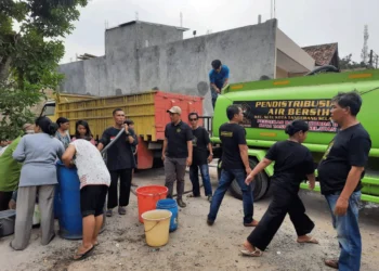
[[[69,94],[68,94],[69,95]],[[75,99],[75,96],[77,99]],[[103,131],[114,125],[113,111],[121,108],[127,118],[134,121],[139,139],[138,167],[148,169],[161,164],[161,149],[165,140],[165,127],[170,122],[167,111],[174,105],[182,108],[183,120],[191,112],[202,114],[202,98],[149,91],[117,96],[84,96],[60,94],[58,101],[44,104],[42,115],[55,120],[58,117],[69,119],[69,133],[75,134],[75,122],[84,119],[89,122],[93,138],[99,141]]]

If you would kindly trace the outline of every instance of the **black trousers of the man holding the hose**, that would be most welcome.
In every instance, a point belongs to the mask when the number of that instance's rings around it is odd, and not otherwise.
[[[130,185],[132,182],[132,169],[127,168],[127,169],[119,169],[119,170],[109,170],[109,173],[110,173],[110,185],[108,189],[107,208],[113,209],[116,206],[128,206],[129,197],[130,197]],[[119,197],[117,195],[118,178],[120,179]]]

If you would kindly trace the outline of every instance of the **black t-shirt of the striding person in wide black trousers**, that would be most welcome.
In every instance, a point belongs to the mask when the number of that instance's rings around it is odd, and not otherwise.
[[[293,141],[276,142],[265,157],[275,162],[272,183],[290,192],[299,192],[300,183],[314,172],[310,150]]]

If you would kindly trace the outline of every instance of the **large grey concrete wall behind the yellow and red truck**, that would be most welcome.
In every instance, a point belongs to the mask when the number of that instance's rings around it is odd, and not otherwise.
[[[230,67],[231,82],[257,80],[262,75],[274,78],[276,20],[169,43],[165,40],[182,36],[175,28],[165,36],[165,29],[135,24],[107,30],[105,57],[60,67],[66,75],[61,91],[114,95],[159,87],[205,96],[204,113],[211,115],[208,74],[213,60]],[[149,47],[144,48],[146,39]]]

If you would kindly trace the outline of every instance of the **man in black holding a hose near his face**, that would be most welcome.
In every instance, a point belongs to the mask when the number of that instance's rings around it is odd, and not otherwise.
[[[108,204],[106,216],[112,217],[113,208],[118,205],[118,214],[126,215],[126,206],[129,205],[130,185],[132,180],[132,170],[135,168],[132,146],[136,144],[133,130],[125,125],[125,113],[117,108],[113,112],[115,119],[114,127],[107,128],[103,132],[103,137],[97,145],[99,151],[102,151],[107,144],[115,140],[121,129],[123,132],[117,141],[107,150],[107,167],[110,173],[110,186],[108,189]],[[117,183],[120,179],[120,193],[117,203]]]

